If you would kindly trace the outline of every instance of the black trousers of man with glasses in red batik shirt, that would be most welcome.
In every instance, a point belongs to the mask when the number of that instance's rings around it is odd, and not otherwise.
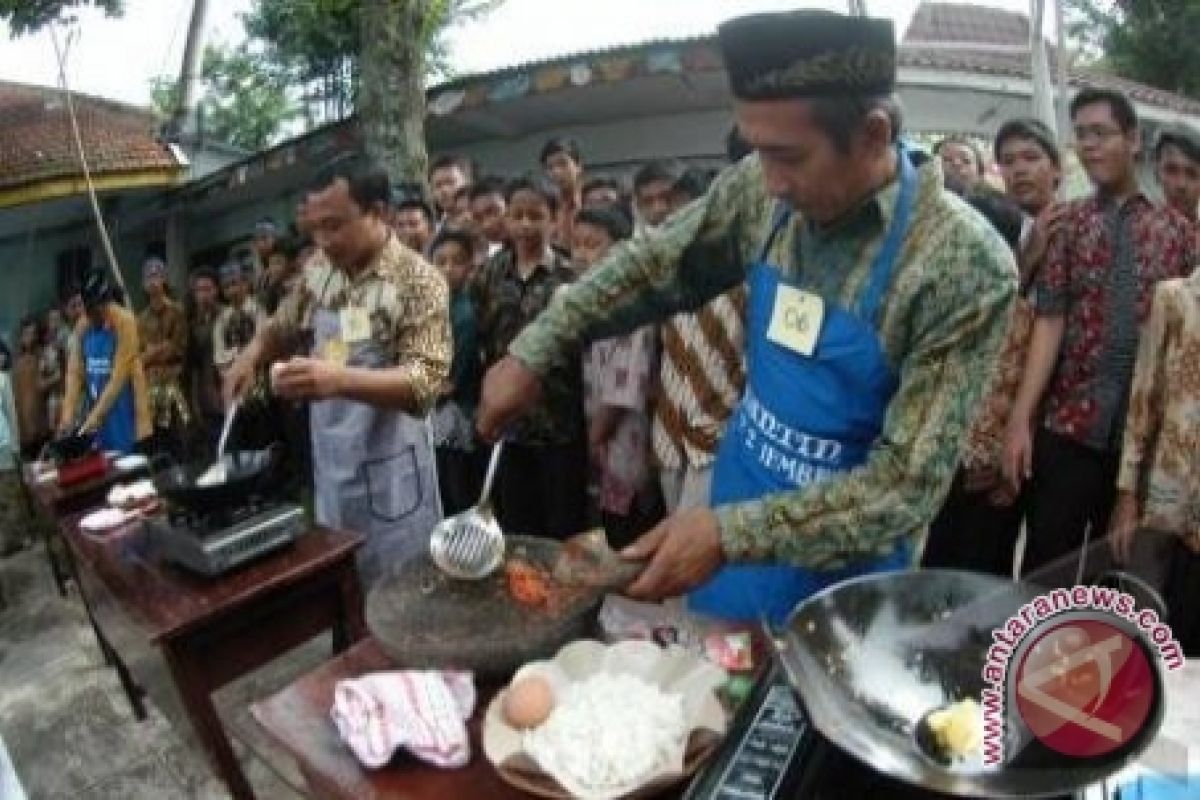
[[[1033,441],[1028,535],[1021,575],[1028,575],[1109,534],[1120,455],[1039,429]]]

